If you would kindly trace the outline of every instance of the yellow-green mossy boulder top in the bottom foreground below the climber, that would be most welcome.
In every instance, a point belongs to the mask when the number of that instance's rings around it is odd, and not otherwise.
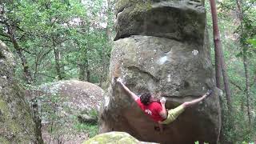
[[[116,143],[116,144],[154,144],[153,142],[140,142],[136,138],[132,137],[130,134],[125,132],[110,132],[105,134],[98,134],[94,138],[90,138],[88,141],[83,142],[83,144],[106,144],[106,143]]]

